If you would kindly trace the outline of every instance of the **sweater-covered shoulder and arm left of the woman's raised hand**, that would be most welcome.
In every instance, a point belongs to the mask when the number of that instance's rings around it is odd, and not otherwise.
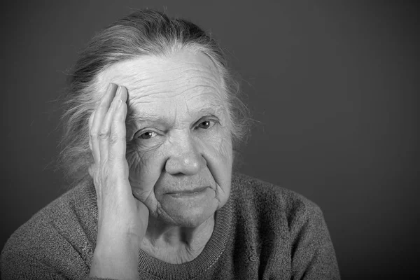
[[[86,218],[91,215],[86,199],[83,187],[76,186],[21,225],[1,251],[2,274],[40,276],[38,273],[67,269],[69,262],[83,271],[80,256],[86,246],[85,229],[93,223]]]

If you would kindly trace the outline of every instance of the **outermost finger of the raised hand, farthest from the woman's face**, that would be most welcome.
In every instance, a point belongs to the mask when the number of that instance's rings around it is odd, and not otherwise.
[[[101,134],[101,127],[104,121],[104,117],[106,116],[106,112],[109,110],[109,106],[111,105],[113,97],[116,94],[116,90],[117,85],[110,83],[93,116],[92,128],[90,129],[90,139],[95,162],[99,162],[101,160],[99,138],[106,137],[106,134]]]

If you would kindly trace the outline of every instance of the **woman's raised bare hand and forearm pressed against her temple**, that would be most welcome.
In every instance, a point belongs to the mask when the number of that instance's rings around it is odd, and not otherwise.
[[[98,235],[90,276],[137,279],[148,209],[132,195],[125,159],[127,89],[111,83],[89,120],[98,204]]]

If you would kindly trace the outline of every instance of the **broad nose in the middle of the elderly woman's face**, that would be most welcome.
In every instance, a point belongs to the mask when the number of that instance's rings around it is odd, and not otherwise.
[[[169,157],[165,170],[169,174],[194,175],[205,165],[200,145],[197,145],[197,140],[188,132],[174,135],[168,148]]]

